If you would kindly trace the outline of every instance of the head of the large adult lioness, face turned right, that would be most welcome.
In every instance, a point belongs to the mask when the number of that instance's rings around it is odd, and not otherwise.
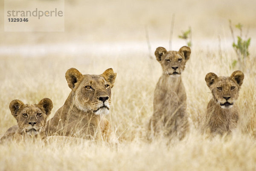
[[[108,114],[111,105],[111,88],[116,79],[112,68],[101,75],[82,75],[75,68],[67,70],[67,84],[74,94],[79,110],[96,115]]]

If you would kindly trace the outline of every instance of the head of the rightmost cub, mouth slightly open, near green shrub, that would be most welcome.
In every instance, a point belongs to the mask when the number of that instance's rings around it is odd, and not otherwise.
[[[206,84],[212,91],[213,99],[224,109],[233,107],[236,99],[238,99],[243,80],[244,74],[241,71],[234,71],[230,77],[218,77],[212,72],[205,76]]]

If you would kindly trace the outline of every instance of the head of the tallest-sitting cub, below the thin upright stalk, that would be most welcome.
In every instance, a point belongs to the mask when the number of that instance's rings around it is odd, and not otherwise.
[[[155,51],[157,61],[163,68],[163,74],[180,75],[185,69],[186,61],[189,60],[190,48],[183,46],[177,51],[168,51],[163,47],[158,47]]]

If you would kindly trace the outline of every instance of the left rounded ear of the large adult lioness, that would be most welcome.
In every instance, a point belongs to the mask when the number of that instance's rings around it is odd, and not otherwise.
[[[75,88],[75,84],[79,81],[81,76],[81,72],[79,72],[79,70],[76,70],[76,68],[68,69],[65,75],[68,87],[70,87],[73,90]]]

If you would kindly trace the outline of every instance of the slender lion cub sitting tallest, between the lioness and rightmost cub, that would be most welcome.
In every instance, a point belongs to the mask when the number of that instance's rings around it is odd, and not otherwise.
[[[188,130],[186,114],[186,92],[181,73],[189,60],[190,48],[183,46],[177,51],[167,51],[158,47],[155,51],[157,61],[163,68],[163,74],[154,90],[154,113],[149,123],[152,136],[163,133],[183,139]]]

